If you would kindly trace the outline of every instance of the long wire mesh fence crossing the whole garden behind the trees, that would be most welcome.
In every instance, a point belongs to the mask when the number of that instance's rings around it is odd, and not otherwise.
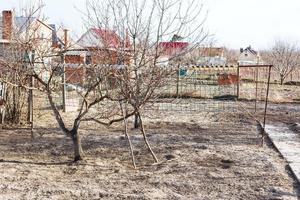
[[[267,66],[180,66],[162,68],[169,73],[164,84],[156,90],[155,98],[144,107],[144,111],[175,111],[185,115],[195,112],[263,112],[267,95],[268,71]],[[274,73],[274,72],[273,72]],[[289,86],[279,86],[273,74],[270,74],[270,101],[277,101],[278,95],[287,99],[288,95],[281,93],[278,88],[288,93]],[[83,84],[74,84],[66,79],[67,112],[76,112],[83,101],[85,92]],[[299,90],[299,86],[295,87]],[[61,87],[62,88],[62,87]],[[107,89],[107,85],[103,86]],[[101,89],[101,87],[100,87]],[[294,92],[289,92],[297,96]],[[299,93],[300,94],[300,93]],[[277,95],[277,96],[276,96]],[[297,97],[291,97],[297,98]],[[63,95],[58,90],[53,99],[58,107],[62,108]],[[299,98],[300,99],[300,98]],[[35,95],[34,101],[39,102],[35,107],[38,110],[50,110],[50,104],[45,95]],[[96,105],[101,110],[108,104]],[[241,108],[243,107],[243,108]]]

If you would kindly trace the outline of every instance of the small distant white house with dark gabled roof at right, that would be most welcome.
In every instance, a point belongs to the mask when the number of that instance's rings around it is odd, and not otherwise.
[[[263,61],[259,53],[248,46],[245,49],[240,49],[238,63],[239,65],[258,65],[263,64]]]

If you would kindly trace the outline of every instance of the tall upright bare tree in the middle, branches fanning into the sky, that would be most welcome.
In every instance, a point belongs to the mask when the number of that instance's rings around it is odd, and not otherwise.
[[[166,84],[166,77],[174,72],[177,75],[176,70],[169,70],[171,66],[164,69],[163,62],[177,66],[176,61],[180,57],[197,48],[208,37],[203,29],[206,18],[203,6],[197,0],[112,0],[105,3],[89,0],[85,14],[88,27],[113,30],[124,41],[123,45],[114,48],[118,58],[130,60],[126,63],[123,59],[119,63],[124,67],[116,75],[118,99],[134,112],[135,126],[140,123],[145,144],[157,162],[147,140],[143,108],[158,98],[160,89]],[[161,42],[171,41],[172,45],[180,46],[180,42],[176,43],[179,39],[189,45],[166,53],[168,49]],[[167,60],[162,61],[165,55]]]

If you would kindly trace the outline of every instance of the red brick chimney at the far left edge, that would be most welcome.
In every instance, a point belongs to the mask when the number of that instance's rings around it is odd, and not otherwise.
[[[11,10],[2,11],[2,39],[11,40],[13,29],[13,12]]]

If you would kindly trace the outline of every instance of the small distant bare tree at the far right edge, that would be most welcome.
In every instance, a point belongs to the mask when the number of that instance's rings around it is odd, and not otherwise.
[[[300,66],[300,52],[295,43],[277,40],[273,47],[262,54],[263,60],[274,65],[280,84]]]

